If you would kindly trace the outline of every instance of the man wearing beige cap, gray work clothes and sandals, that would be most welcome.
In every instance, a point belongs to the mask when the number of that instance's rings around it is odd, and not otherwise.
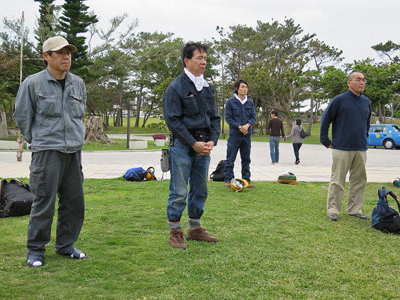
[[[43,265],[59,198],[55,250],[86,258],[74,246],[84,218],[81,149],[85,139],[86,88],[68,72],[77,48],[63,37],[43,43],[46,70],[26,78],[15,101],[14,120],[30,143],[30,190],[35,195],[28,224],[28,266]]]

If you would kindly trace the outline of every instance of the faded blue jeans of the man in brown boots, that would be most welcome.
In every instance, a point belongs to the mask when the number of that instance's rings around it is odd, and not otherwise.
[[[170,222],[181,220],[188,198],[188,217],[200,219],[208,196],[207,177],[210,155],[190,157],[190,148],[178,139],[169,148],[171,180],[168,197],[167,217]],[[188,192],[188,183],[190,185]]]

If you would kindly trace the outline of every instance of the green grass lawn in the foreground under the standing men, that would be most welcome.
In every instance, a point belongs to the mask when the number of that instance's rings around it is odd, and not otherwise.
[[[399,299],[400,235],[347,217],[346,201],[339,222],[328,221],[328,183],[235,193],[210,182],[202,221],[219,242],[188,250],[167,243],[168,185],[85,180],[84,260],[55,254],[54,220],[44,266],[28,268],[29,217],[0,219],[1,299]],[[369,216],[380,187],[367,183]]]

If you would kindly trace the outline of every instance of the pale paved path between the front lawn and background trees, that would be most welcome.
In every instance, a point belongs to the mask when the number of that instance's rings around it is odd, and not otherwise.
[[[125,138],[110,134],[111,138]],[[152,140],[152,137],[132,137]],[[283,171],[293,172],[298,181],[328,182],[332,165],[332,150],[321,145],[304,144],[300,149],[300,161],[294,165],[294,153],[290,142],[279,146],[280,161],[271,165],[269,143],[252,142],[252,181],[276,181]],[[386,183],[400,177],[400,150],[368,149],[368,182]],[[30,152],[23,153],[23,161],[17,162],[15,150],[0,151],[0,177],[29,177]],[[226,141],[219,141],[212,150],[210,174],[217,163],[226,157]],[[110,179],[121,177],[133,167],[154,167],[157,178],[161,179],[160,150],[136,151],[95,151],[82,152],[83,174],[85,178]],[[240,155],[234,167],[236,177],[241,177]],[[169,172],[164,174],[169,179]]]

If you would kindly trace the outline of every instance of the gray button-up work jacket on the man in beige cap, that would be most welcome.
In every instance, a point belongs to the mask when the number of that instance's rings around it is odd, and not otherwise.
[[[46,68],[26,78],[15,100],[14,121],[31,152],[73,153],[85,142],[86,88],[83,80],[66,73],[66,86]]]

